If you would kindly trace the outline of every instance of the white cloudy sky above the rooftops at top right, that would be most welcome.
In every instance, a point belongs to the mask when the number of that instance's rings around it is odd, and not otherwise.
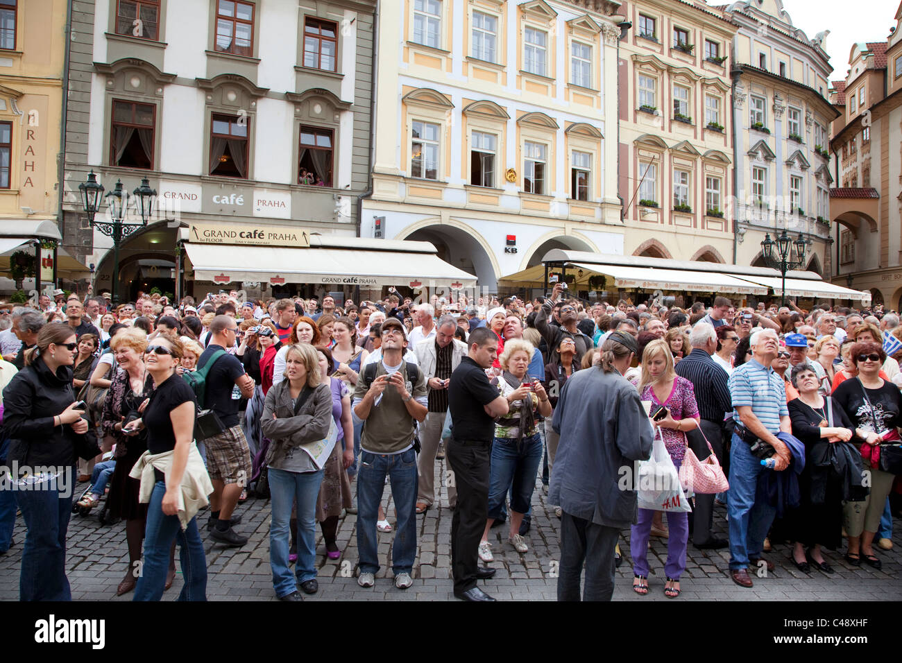
[[[849,69],[849,51],[856,41],[885,41],[889,28],[895,27],[893,16],[899,0],[783,0],[783,8],[811,39],[829,30],[827,52],[833,65],[831,80],[845,78]]]

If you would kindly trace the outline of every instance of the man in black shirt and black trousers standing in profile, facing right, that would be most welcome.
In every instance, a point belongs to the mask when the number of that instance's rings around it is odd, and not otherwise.
[[[451,568],[454,595],[464,601],[494,601],[476,586],[495,569],[480,568],[477,558],[489,506],[489,449],[494,419],[507,414],[509,403],[485,375],[498,352],[498,337],[486,327],[474,329],[467,355],[451,373],[448,410],[452,438],[446,456],[454,471],[457,508],[451,519]]]

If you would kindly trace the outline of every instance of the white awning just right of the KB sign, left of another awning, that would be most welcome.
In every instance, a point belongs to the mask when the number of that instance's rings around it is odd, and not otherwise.
[[[766,295],[768,289],[720,272],[660,270],[653,267],[606,265],[573,262],[574,267],[611,276],[617,288],[641,290],[686,290],[689,292],[733,292],[744,295]]]

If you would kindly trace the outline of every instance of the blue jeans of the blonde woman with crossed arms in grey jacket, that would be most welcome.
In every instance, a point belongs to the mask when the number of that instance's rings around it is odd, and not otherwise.
[[[286,472],[270,468],[270,566],[276,596],[296,592],[298,583],[317,577],[317,497],[323,474],[324,470]],[[291,541],[289,521],[295,502],[298,503],[298,561],[292,574],[288,563]]]

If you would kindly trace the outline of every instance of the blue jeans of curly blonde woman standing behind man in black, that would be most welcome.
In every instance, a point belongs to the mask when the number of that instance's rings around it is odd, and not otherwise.
[[[495,437],[492,442],[492,474],[489,479],[489,518],[501,515],[504,495],[511,487],[511,511],[526,513],[536,487],[538,464],[542,462],[542,439],[538,433],[517,440]]]

